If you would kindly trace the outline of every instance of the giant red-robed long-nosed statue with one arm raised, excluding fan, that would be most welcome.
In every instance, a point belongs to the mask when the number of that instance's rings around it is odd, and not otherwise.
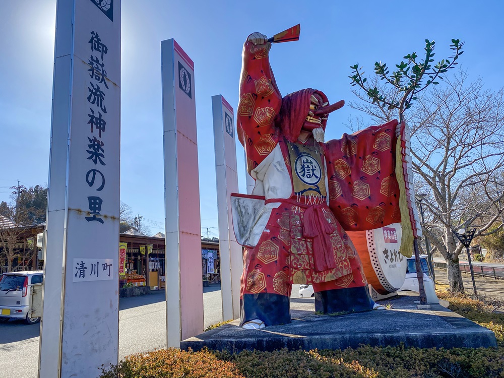
[[[233,205],[237,240],[246,246],[240,325],[289,323],[293,284],[313,285],[317,313],[382,307],[368,294],[345,231],[401,220],[407,172],[396,164],[396,146],[404,127],[394,120],[324,143],[328,114],[344,101],[330,104],[311,88],[282,98],[270,48],[261,33],[243,46],[237,135],[256,184],[253,196],[238,196]]]

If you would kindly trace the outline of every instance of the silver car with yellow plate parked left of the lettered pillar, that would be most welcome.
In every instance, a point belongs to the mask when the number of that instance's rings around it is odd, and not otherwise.
[[[0,321],[24,320],[34,324],[40,318],[31,317],[33,289],[41,288],[43,271],[4,273],[0,277]]]

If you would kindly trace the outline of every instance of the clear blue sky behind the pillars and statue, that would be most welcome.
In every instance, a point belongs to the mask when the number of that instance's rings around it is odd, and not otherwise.
[[[436,41],[438,58],[450,54],[452,38],[464,41],[460,61],[470,79],[481,76],[495,90],[504,85],[500,1],[339,3],[122,0],[121,200],[152,234],[164,232],[161,40],[175,38],[195,62],[201,225],[214,227],[210,236],[217,235],[211,96],[222,94],[236,109],[248,34],[271,36],[301,24],[298,42],[274,45],[270,53],[283,95],[312,87],[331,102],[348,103],[355,100],[350,65],[369,73],[376,60],[393,65],[421,52],[426,38]],[[17,180],[47,183],[55,10],[56,0],[0,1],[0,201],[9,200]],[[347,132],[351,114],[348,106],[333,113],[326,139]],[[239,144],[237,156],[244,193]]]

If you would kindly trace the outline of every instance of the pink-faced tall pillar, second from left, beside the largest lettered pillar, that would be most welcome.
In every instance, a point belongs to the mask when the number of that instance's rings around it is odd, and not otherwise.
[[[165,181],[167,345],[203,332],[200,190],[194,62],[161,41]],[[175,288],[178,288],[176,290]],[[178,304],[178,305],[175,305]]]

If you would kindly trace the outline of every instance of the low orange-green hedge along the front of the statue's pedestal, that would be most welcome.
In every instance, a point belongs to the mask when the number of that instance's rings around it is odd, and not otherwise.
[[[100,378],[504,378],[504,314],[490,302],[438,292],[450,309],[491,329],[497,348],[370,347],[274,352],[162,349],[134,354],[102,369]]]

